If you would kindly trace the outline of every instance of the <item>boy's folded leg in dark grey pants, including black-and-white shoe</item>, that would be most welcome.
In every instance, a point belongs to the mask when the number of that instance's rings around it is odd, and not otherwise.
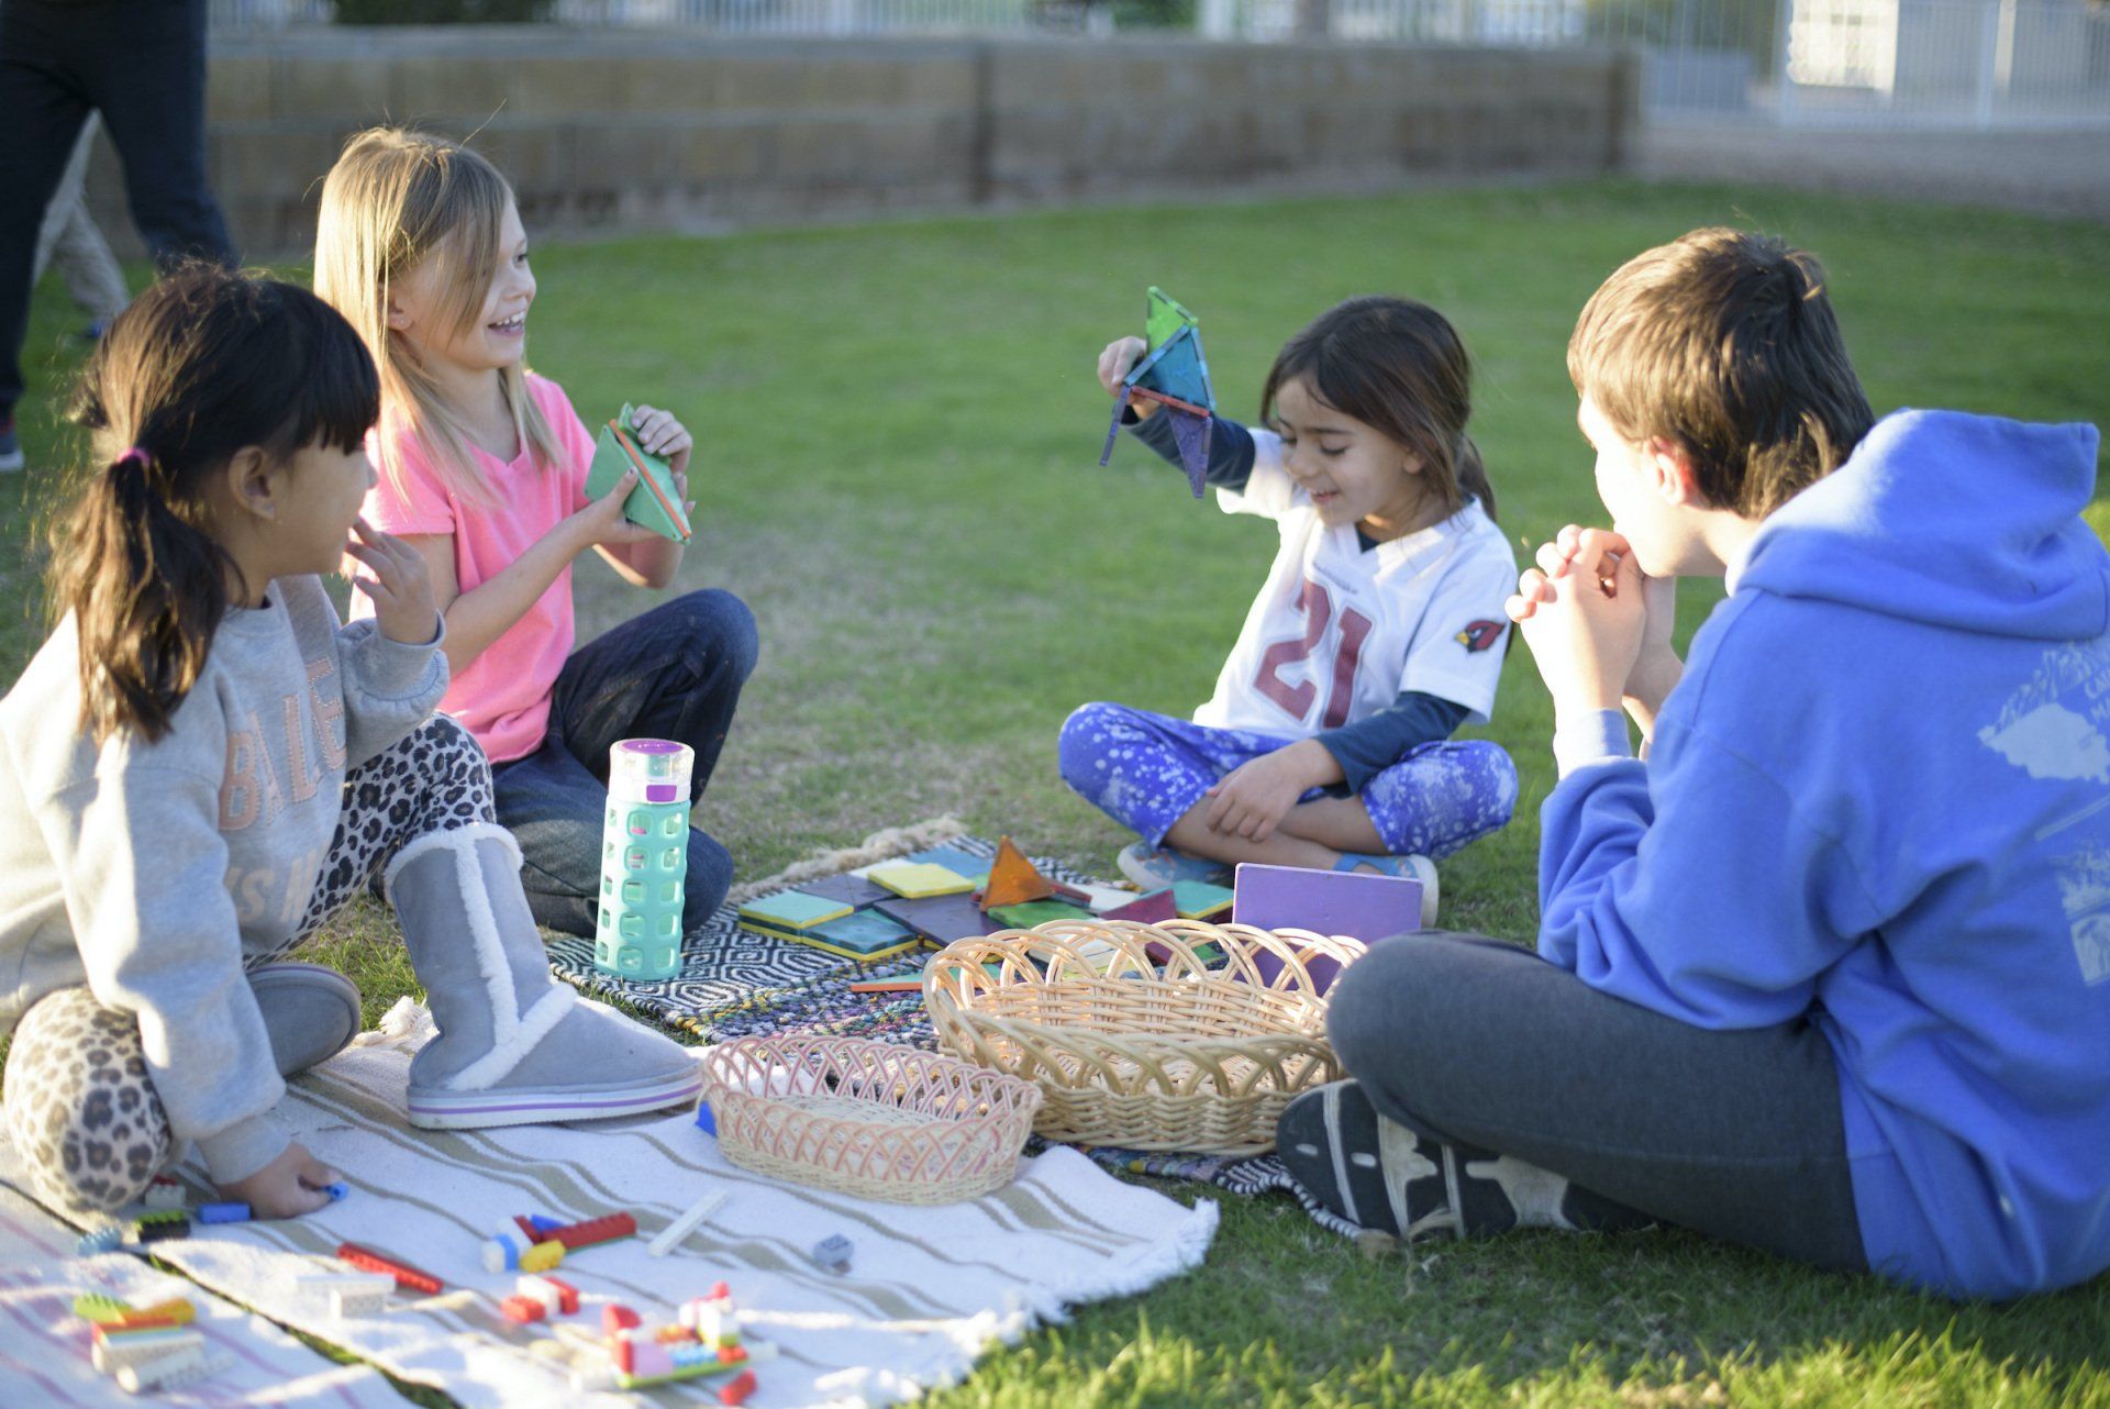
[[[1867,1266],[1838,1072],[1810,1023],[1707,1031],[1528,949],[1424,932],[1348,966],[1327,1029],[1355,1082],[1291,1103],[1283,1158],[1350,1221],[1661,1219]],[[1443,1204],[1456,1217],[1431,1217]]]

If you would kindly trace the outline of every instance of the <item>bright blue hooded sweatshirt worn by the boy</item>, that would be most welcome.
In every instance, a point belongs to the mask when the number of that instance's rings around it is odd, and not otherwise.
[[[1540,953],[1711,1029],[1810,1017],[1869,1266],[2110,1268],[2110,555],[2093,426],[1884,418],[1760,527],[1648,764],[1547,797]]]

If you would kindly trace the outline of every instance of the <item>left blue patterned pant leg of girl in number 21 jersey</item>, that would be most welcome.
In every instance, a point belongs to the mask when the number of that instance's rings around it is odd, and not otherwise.
[[[1063,719],[1055,753],[1070,789],[1152,846],[1239,764],[1293,742],[1127,704],[1082,704]],[[1321,797],[1312,789],[1304,797]]]

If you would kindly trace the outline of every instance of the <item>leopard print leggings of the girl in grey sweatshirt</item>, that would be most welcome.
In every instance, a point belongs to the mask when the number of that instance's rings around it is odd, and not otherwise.
[[[492,770],[483,749],[447,715],[433,715],[395,747],[344,774],[344,810],[308,911],[268,964],[308,939],[411,837],[492,823]],[[38,1000],[15,1027],[6,1057],[6,1128],[38,1196],[72,1209],[118,1209],[181,1150],[148,1078],[139,1021],[103,1008],[84,987]]]

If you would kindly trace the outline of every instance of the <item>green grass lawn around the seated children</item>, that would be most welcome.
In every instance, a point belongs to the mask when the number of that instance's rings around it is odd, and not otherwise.
[[[1224,409],[1251,418],[1281,342],[1350,293],[1441,308],[1479,359],[1475,437],[1532,544],[1591,521],[1564,348],[1627,255],[1701,224],[1815,249],[1878,411],[1950,405],[2110,426],[2110,228],[1728,188],[1591,184],[952,219],[542,247],[534,365],[593,420],[675,407],[698,437],[684,586],[730,586],[764,658],[701,823],[743,877],[954,812],[1112,871],[1123,835],[1055,776],[1082,700],[1207,698],[1272,525],[1188,498],[1135,445],[1095,468],[1093,356],[1144,287],[1198,310]],[[40,468],[0,485],[0,681],[42,637],[34,555],[74,441],[57,281],[27,348]],[[2110,529],[2110,502],[2091,508]],[[580,633],[648,607],[576,574]],[[1718,593],[1690,591],[1690,631]],[[1551,709],[1530,654],[1485,730],[1517,821],[1443,867],[1443,922],[1536,926]],[[367,991],[411,985],[384,915],[316,945]],[[2110,1158],[2110,1154],[2106,1154]],[[1163,1185],[1182,1200],[1203,1192]],[[1082,1310],[933,1396],[968,1405],[2110,1405],[2110,1278],[1956,1308],[1656,1232],[1515,1234],[1365,1259],[1289,1200],[1224,1200],[1207,1266]]]

